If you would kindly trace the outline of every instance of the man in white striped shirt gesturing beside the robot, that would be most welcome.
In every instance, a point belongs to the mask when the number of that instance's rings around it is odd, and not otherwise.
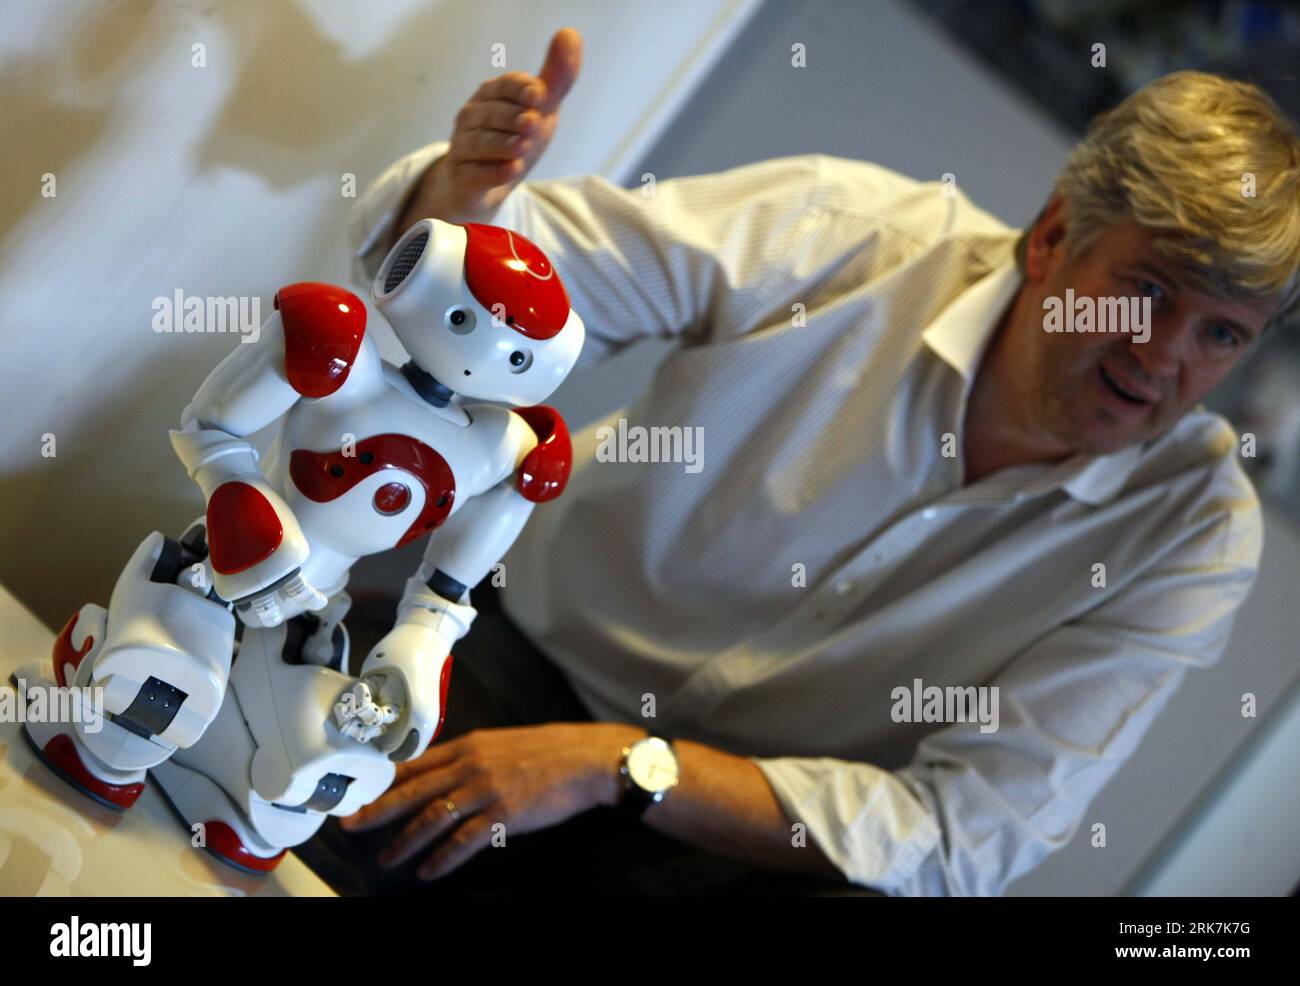
[[[653,195],[524,185],[578,59],[564,30],[538,77],[484,83],[359,200],[352,241],[365,282],[421,216],[495,222],[564,277],[582,362],[681,340],[575,434],[566,494],[506,559],[506,615],[597,722],[436,744],[344,827],[404,822],[386,861],[439,877],[497,823],[620,803],[653,735],[679,783],[628,800],[659,833],[888,894],[1002,892],[1219,658],[1254,579],[1258,501],[1199,402],[1295,311],[1294,126],[1252,86],[1158,79],[1093,122],[1023,235],[822,155]],[[1082,320],[1117,298],[1148,320]],[[651,428],[706,438],[701,467],[616,437]]]

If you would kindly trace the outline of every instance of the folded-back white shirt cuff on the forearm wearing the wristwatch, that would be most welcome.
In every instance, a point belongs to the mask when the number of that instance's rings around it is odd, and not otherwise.
[[[939,844],[935,817],[888,770],[833,757],[749,760],[852,883],[898,894]]]

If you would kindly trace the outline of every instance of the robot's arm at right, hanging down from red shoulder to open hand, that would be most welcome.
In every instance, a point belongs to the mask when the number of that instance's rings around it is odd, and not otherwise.
[[[530,425],[517,446],[514,475],[468,501],[430,539],[407,580],[398,620],[361,666],[352,699],[335,710],[339,728],[377,739],[393,760],[419,757],[442,728],[451,646],[477,615],[469,589],[515,542],[533,507],[559,496],[572,449],[563,419],[550,407],[519,408]],[[378,701],[374,701],[374,696]]]

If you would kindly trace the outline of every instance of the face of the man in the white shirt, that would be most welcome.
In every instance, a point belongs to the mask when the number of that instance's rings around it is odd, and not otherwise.
[[[1060,202],[1060,200],[1058,200]],[[1044,225],[1046,224],[1046,225]],[[1253,347],[1274,302],[1228,302],[1196,290],[1135,222],[1109,226],[1078,260],[1065,252],[1063,208],[1049,208],[1026,256],[1011,346],[1013,384],[1041,440],[1106,454],[1166,432]],[[1149,297],[1149,333],[1046,332],[1046,298]],[[1139,338],[1147,337],[1147,342]],[[1118,393],[1115,385],[1141,399]]]

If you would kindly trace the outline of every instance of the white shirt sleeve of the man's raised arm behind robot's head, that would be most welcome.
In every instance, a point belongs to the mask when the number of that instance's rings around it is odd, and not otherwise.
[[[407,155],[358,199],[348,222],[358,284],[369,287],[398,208],[447,146]],[[698,343],[744,334],[796,297],[819,174],[819,156],[800,155],[632,190],[594,174],[525,181],[491,221],[555,265],[586,325],[585,364],[651,336]]]

